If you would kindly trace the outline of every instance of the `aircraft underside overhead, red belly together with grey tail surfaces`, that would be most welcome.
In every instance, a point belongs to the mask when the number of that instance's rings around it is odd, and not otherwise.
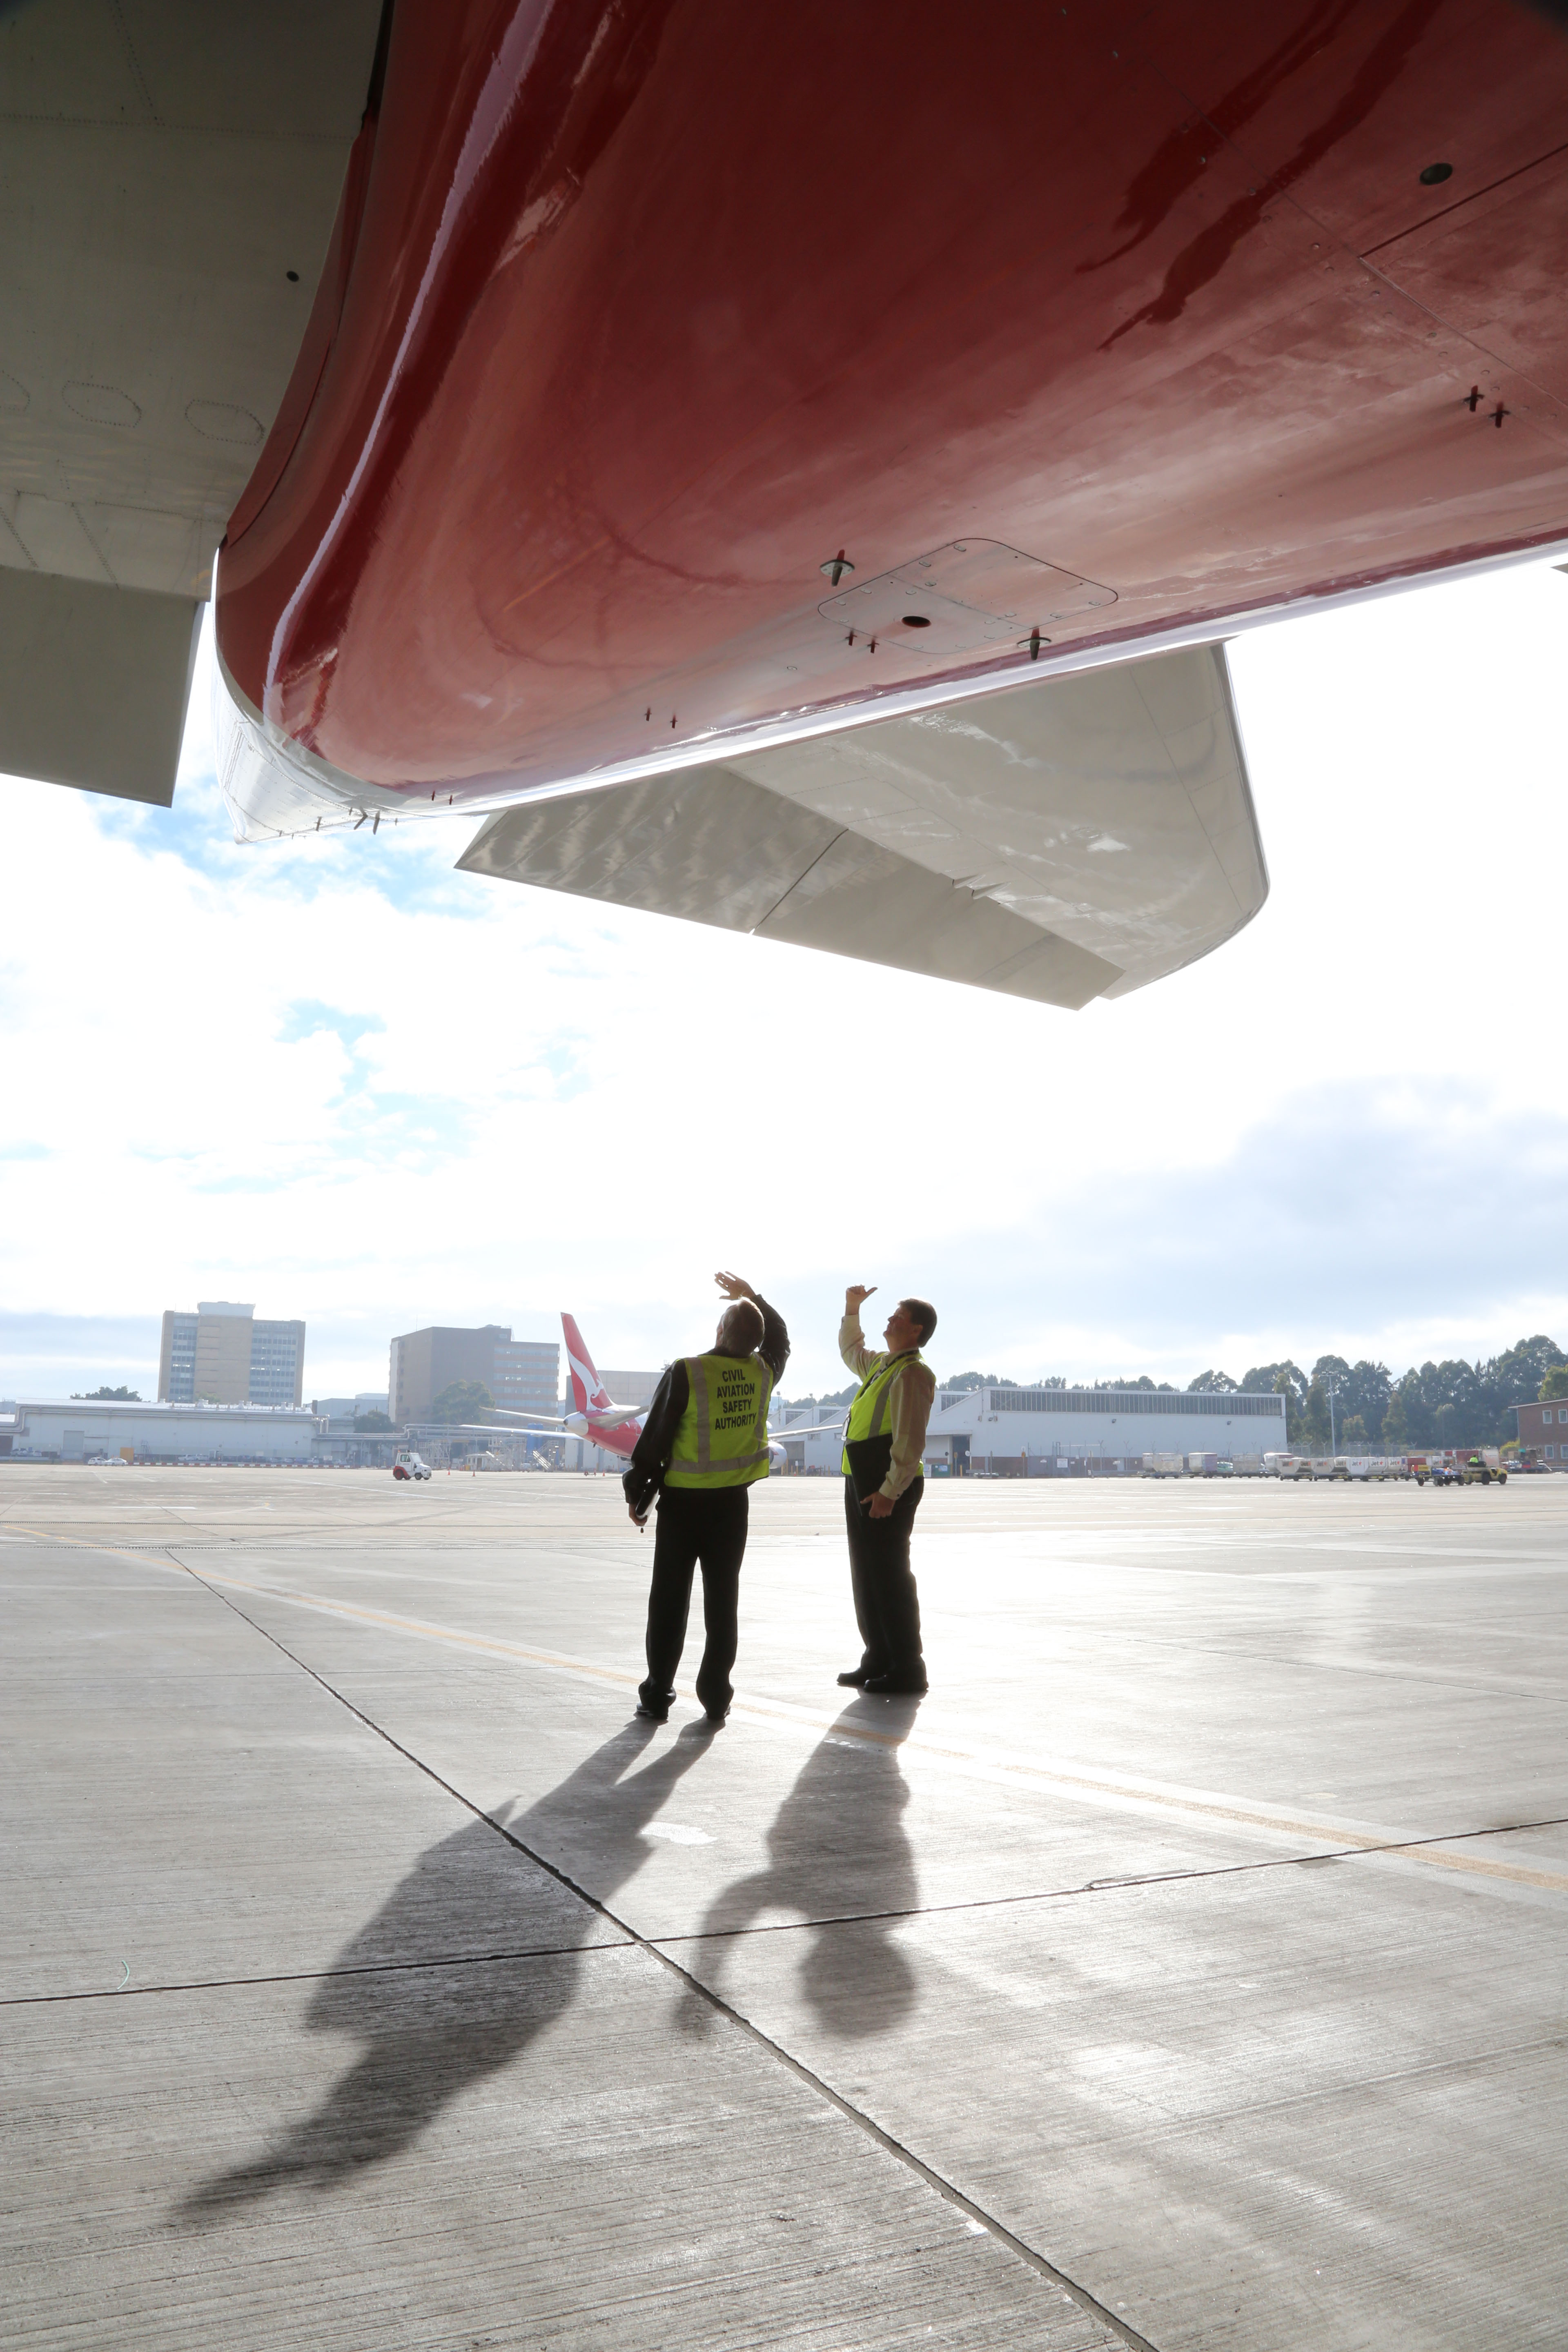
[[[470,809],[473,873],[1084,1004],[1267,894],[1227,635],[1568,539],[1514,0],[0,45],[24,774],[169,797],[221,534],[242,835]]]

